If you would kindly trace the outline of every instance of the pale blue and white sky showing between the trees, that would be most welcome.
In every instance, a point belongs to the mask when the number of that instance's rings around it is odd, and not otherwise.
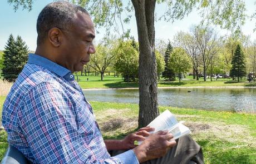
[[[7,3],[7,0],[0,0],[0,50],[4,49],[6,42],[8,40],[9,35],[12,33],[14,37],[18,35],[22,37],[22,39],[26,42],[29,50],[35,51],[36,49],[36,21],[38,14],[41,12],[43,7],[46,4],[52,2],[53,0],[36,0],[33,3],[32,11],[28,12],[26,9],[19,8],[16,12],[14,12],[13,6]],[[256,4],[254,4],[254,0],[245,0],[245,5],[247,8],[247,14],[251,15],[255,12]],[[165,8],[164,4],[160,6],[156,6],[156,13],[161,13]],[[178,31],[189,31],[190,27],[193,24],[198,24],[201,18],[196,11],[193,11],[189,14],[188,17],[185,17],[181,21],[164,22],[157,21],[155,23],[155,38],[163,39],[168,41],[168,39],[172,40],[173,36]],[[256,19],[251,21],[249,18],[246,20],[245,25],[242,27],[242,32],[246,35],[250,36],[250,39],[254,41],[256,39],[256,32],[253,32],[255,28]],[[135,17],[131,18],[131,22],[129,25],[125,25],[125,27],[131,29],[131,36],[134,36],[137,39],[137,26]],[[224,34],[229,34],[230,32],[227,30],[220,29],[219,27],[214,27],[215,30],[219,33],[220,36]],[[96,34],[96,40],[99,41],[104,36],[104,29],[99,29],[100,33]]]

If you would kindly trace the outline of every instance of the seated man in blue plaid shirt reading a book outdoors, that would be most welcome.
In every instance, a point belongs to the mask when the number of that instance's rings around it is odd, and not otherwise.
[[[68,2],[48,4],[37,19],[37,48],[4,102],[2,125],[8,142],[32,163],[142,163],[158,158],[200,161],[200,146],[165,131],[141,128],[123,140],[104,141],[93,111],[74,80],[95,53],[95,29],[85,9]],[[147,137],[147,138],[145,138]],[[140,146],[134,140],[144,140]],[[173,147],[173,148],[172,148]],[[171,151],[169,151],[171,148]],[[127,150],[116,156],[116,150]],[[164,156],[166,152],[169,156]],[[192,153],[191,153],[192,152]],[[177,156],[174,158],[174,156]],[[202,158],[202,157],[201,157]],[[196,160],[198,159],[198,160]],[[157,162],[157,161],[156,161]],[[166,162],[165,162],[166,163]]]

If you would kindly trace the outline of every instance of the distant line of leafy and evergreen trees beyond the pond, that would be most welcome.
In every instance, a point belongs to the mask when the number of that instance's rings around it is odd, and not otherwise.
[[[234,81],[246,76],[255,81],[256,41],[250,42],[244,34],[218,38],[213,28],[193,26],[190,32],[176,33],[173,45],[170,41],[156,40],[158,79],[163,77],[166,81],[175,81],[178,78],[181,81],[190,73],[196,80],[221,74],[223,78],[231,77]],[[27,63],[28,52],[20,36],[16,39],[12,34],[9,36],[4,51],[0,52],[4,79],[13,82],[17,78]],[[139,44],[134,37],[102,39],[81,75],[93,73],[104,80],[105,74],[110,75],[110,72],[114,76],[121,75],[126,82],[138,79]]]

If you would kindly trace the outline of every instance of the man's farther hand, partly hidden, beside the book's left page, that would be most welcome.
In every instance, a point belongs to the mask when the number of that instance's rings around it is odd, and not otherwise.
[[[134,141],[144,141],[145,137],[150,135],[150,131],[154,131],[154,128],[142,127],[137,132],[126,136],[123,140],[121,140],[121,143],[124,146],[123,150],[135,148],[137,145],[134,145]]]

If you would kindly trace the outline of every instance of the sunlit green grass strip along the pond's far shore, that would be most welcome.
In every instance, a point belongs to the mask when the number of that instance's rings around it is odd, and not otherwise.
[[[88,78],[88,81],[87,81]],[[77,79],[77,78],[76,78]],[[114,76],[105,76],[104,80],[100,80],[100,76],[78,76],[79,85],[81,88],[129,88],[129,87],[138,87],[137,82],[124,82],[121,77]],[[203,78],[200,78],[199,81],[193,80],[192,76],[188,76],[186,79],[181,82],[178,81],[164,81],[163,78],[158,82],[158,87],[196,87],[196,86],[256,86],[256,82],[237,82],[232,81],[232,79],[218,79],[217,81],[213,79],[210,81],[208,78],[206,81]]]

